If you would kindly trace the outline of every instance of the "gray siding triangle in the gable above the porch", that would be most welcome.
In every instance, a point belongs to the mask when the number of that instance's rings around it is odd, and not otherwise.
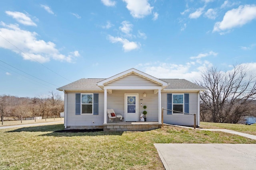
[[[107,84],[108,86],[157,86],[155,82],[147,80],[146,78],[140,77],[136,74],[130,74],[126,77],[120,78]],[[160,85],[159,85],[160,86]]]

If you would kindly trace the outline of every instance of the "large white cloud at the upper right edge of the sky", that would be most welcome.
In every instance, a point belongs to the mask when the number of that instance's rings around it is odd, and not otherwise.
[[[214,24],[212,32],[225,31],[234,27],[242,26],[254,19],[256,19],[256,6],[241,5],[236,9],[226,12],[223,20]]]

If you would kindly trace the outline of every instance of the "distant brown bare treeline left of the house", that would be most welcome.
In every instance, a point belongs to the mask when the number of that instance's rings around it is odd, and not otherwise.
[[[60,117],[64,111],[64,101],[57,93],[50,92],[47,97],[19,98],[16,96],[0,96],[0,115],[10,117],[13,120],[21,120],[26,117]]]

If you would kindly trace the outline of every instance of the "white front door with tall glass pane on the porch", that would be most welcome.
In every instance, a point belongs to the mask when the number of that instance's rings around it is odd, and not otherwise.
[[[125,121],[138,121],[138,94],[125,94]]]

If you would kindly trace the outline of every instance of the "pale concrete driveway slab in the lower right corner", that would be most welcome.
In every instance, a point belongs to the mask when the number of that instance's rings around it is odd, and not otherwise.
[[[255,170],[256,144],[154,144],[166,170]]]

